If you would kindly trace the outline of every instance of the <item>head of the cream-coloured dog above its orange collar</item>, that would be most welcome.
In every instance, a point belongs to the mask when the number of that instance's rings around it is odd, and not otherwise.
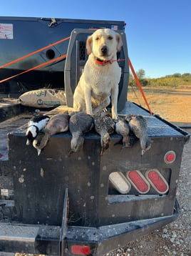
[[[93,53],[103,61],[111,60],[120,51],[123,41],[120,34],[111,29],[98,29],[86,41],[87,53]]]

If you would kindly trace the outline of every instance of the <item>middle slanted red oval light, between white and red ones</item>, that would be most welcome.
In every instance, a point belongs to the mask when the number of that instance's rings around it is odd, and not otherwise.
[[[135,187],[140,194],[145,194],[149,191],[150,184],[141,172],[130,171],[127,173],[127,177],[130,180],[130,183],[133,184],[133,187]]]

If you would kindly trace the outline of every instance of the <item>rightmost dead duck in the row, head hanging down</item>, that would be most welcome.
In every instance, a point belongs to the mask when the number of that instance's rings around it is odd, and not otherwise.
[[[129,122],[130,131],[140,139],[141,156],[151,147],[151,140],[147,134],[147,122],[141,115],[128,114],[125,119]]]

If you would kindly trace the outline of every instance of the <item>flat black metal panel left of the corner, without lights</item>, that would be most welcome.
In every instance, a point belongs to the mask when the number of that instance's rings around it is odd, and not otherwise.
[[[32,146],[26,148],[24,136],[15,135],[9,134],[9,160],[14,175],[17,220],[61,225],[63,193],[70,187],[69,222],[95,225],[99,155],[94,152],[99,151],[98,141],[87,139],[83,152],[68,157],[71,135],[52,137],[38,157]],[[92,195],[95,200],[91,200]]]

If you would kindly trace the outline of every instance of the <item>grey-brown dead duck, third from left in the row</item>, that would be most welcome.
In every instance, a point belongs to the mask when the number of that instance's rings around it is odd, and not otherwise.
[[[83,133],[89,132],[93,128],[93,117],[85,112],[73,112],[70,114],[69,130],[72,134],[70,155],[78,152],[83,146]]]

